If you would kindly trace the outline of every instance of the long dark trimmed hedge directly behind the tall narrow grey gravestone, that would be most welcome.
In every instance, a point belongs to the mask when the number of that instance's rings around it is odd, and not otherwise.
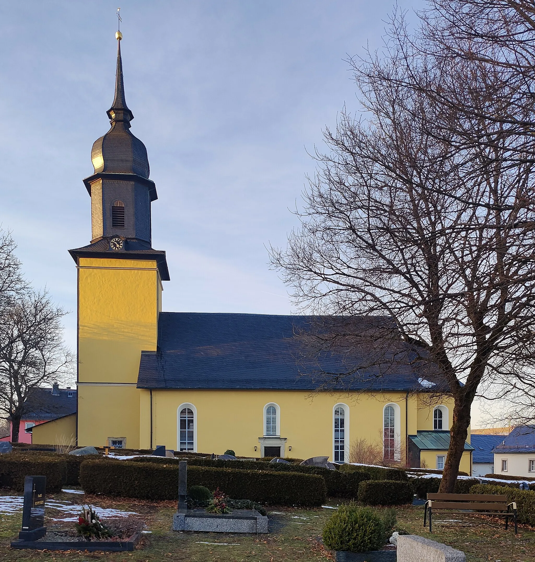
[[[80,469],[80,483],[85,492],[108,496],[176,500],[178,482],[176,463],[104,459],[85,461]],[[326,498],[325,482],[315,474],[188,466],[188,484],[205,486],[211,491],[220,488],[234,500],[260,504],[316,506]]]

